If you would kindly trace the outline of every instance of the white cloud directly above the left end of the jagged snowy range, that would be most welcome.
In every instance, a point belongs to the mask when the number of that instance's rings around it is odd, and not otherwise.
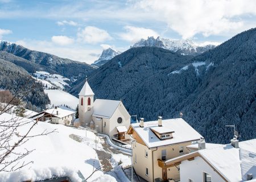
[[[135,43],[138,40],[147,39],[148,36],[154,36],[155,38],[159,36],[157,32],[151,30],[149,28],[142,27],[133,27],[133,26],[125,26],[126,32],[119,33],[119,37],[123,40],[126,40],[131,43]]]

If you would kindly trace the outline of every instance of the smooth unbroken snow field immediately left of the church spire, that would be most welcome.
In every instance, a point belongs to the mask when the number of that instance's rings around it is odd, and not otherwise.
[[[79,99],[63,90],[44,90],[44,93],[48,94],[51,105],[67,105],[72,109],[76,109],[77,104],[79,104]]]

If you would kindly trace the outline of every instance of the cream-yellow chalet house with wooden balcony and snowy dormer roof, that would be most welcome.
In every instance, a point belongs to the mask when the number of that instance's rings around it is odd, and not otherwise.
[[[133,143],[133,166],[137,175],[146,181],[175,181],[180,179],[179,163],[165,162],[189,153],[187,146],[200,140],[197,133],[182,118],[144,122],[130,125],[127,134]]]

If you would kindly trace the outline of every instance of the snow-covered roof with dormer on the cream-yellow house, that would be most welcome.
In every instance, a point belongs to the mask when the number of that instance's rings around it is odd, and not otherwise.
[[[171,139],[160,140],[153,131],[151,131],[151,129],[158,127],[158,121],[144,122],[144,127],[140,127],[139,123],[133,123],[131,127],[133,127],[133,130],[141,137],[148,148],[199,140],[202,137],[182,118],[162,120],[163,128],[165,127],[168,131],[174,131],[174,133],[172,133],[173,138]]]

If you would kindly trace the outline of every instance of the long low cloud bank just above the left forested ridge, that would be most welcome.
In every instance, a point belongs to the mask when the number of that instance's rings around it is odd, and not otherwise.
[[[59,47],[59,46],[56,46],[53,42],[48,42],[43,40],[42,41],[31,40],[31,39],[23,39],[15,43],[20,44],[28,49],[51,53],[59,57],[81,61],[88,64],[91,64],[95,60],[97,60],[98,56],[102,52],[102,49],[80,47],[76,43],[68,47]]]

